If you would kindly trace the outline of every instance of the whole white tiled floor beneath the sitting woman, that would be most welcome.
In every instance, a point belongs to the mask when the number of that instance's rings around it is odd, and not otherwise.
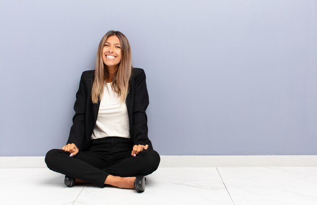
[[[159,168],[146,190],[68,188],[46,168],[0,169],[0,204],[317,204],[317,167]]]

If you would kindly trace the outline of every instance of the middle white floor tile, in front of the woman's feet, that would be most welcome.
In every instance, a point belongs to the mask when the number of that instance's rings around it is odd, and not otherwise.
[[[74,204],[230,204],[216,168],[159,168],[146,177],[146,190],[86,186]]]

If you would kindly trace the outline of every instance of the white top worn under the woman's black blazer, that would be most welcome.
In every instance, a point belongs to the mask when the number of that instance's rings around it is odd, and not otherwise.
[[[112,90],[111,83],[106,83],[91,139],[104,137],[130,138],[129,129],[127,105],[120,102],[120,97]]]

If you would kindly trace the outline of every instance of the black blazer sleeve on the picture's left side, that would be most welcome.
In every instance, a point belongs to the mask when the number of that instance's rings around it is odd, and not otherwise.
[[[73,125],[70,128],[68,143],[74,143],[80,150],[85,138],[85,111],[87,103],[87,89],[85,85],[85,72],[82,73],[79,89],[76,93],[74,104],[75,115],[72,118]]]

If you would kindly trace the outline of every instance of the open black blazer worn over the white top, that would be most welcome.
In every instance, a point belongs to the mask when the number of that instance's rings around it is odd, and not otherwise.
[[[95,79],[95,70],[84,71],[80,86],[76,93],[74,105],[75,115],[70,128],[68,143],[74,143],[80,150],[89,148],[91,135],[96,125],[100,101],[92,103],[91,90]],[[130,137],[134,145],[149,145],[153,149],[147,136],[147,116],[145,110],[149,104],[145,81],[145,72],[141,68],[133,68],[130,89],[126,100]]]

